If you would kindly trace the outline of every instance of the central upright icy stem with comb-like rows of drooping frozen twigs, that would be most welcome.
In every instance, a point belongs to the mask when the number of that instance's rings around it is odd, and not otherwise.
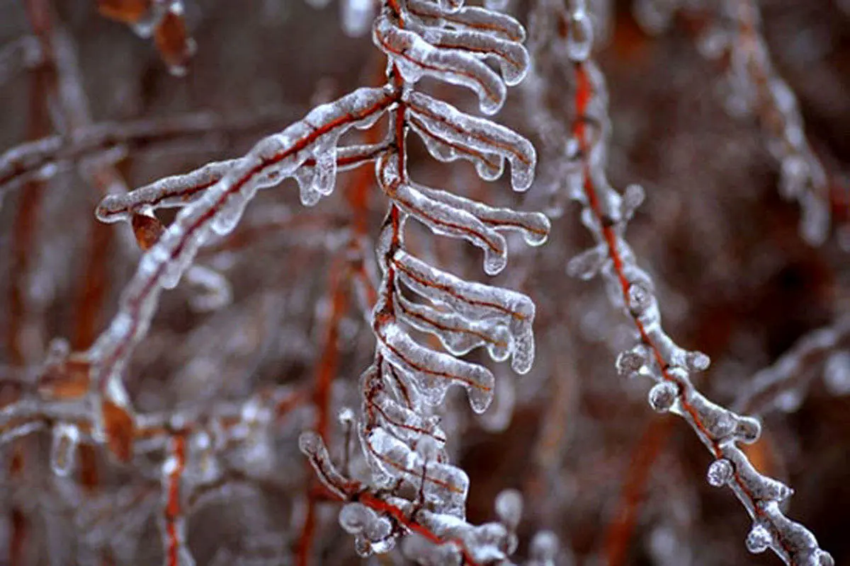
[[[320,444],[324,434],[302,436],[302,450],[320,479],[351,502],[340,523],[355,535],[363,556],[387,552],[396,538],[411,534],[427,542],[405,541],[406,552],[422,563],[493,563],[514,550],[510,530],[496,533],[492,525],[473,527],[464,520],[469,479],[449,462],[448,439],[435,413],[452,385],[466,389],[475,412],[490,405],[493,374],[459,359],[470,350],[483,347],[493,360],[510,357],[516,372],[529,371],[534,304],[524,294],[466,281],[411,255],[405,227],[416,220],[440,236],[467,240],[482,250],[484,272],[495,275],[507,264],[504,233],[521,233],[526,243],[539,245],[549,222],[541,214],[484,205],[412,181],[406,137],[415,132],[438,160],[472,161],[485,180],[500,177],[507,161],[513,188],[529,188],[536,152],[528,140],[416,91],[417,81],[431,76],[468,87],[484,112],[495,113],[507,85],[527,70],[523,37],[515,20],[460,4],[409,7],[389,0],[373,27],[374,42],[389,59],[388,80],[400,96],[390,111],[388,148],[377,156],[377,185],[389,210],[377,238],[382,281],[371,316],[375,360],[360,377],[358,429],[371,479],[353,485],[330,462]],[[501,76],[484,59],[496,63]],[[432,334],[445,351],[421,344],[412,330]]]

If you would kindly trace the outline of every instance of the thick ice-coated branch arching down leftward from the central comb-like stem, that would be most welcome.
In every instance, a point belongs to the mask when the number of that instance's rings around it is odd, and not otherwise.
[[[122,371],[134,345],[150,325],[161,289],[171,289],[178,283],[212,233],[226,234],[235,228],[248,201],[259,188],[274,187],[286,177],[295,177],[305,205],[314,205],[322,196],[331,193],[336,180],[339,137],[354,126],[371,126],[396,99],[396,93],[389,88],[362,88],[333,104],[317,107],[304,120],[263,138],[245,157],[229,162],[226,167],[212,165],[210,169],[214,171],[202,170],[205,176],[209,172],[209,176],[204,177],[209,187],[203,195],[185,205],[167,230],[160,232],[153,225],[155,237],[147,241],[149,249],[122,294],[116,317],[88,351],[94,384],[99,393],[105,395],[104,406],[116,407],[104,413],[104,430],[100,434],[110,436],[111,421],[117,426],[119,416],[123,421],[132,421],[127,416]],[[154,196],[150,199],[156,201],[162,194],[171,194],[169,191],[196,192],[199,178],[195,172],[172,177],[165,187],[155,183],[153,188],[141,190],[144,195],[152,193]],[[146,199],[147,196],[142,200]],[[111,207],[110,202],[108,200],[101,208],[121,209],[120,203]],[[130,218],[124,215],[124,218],[139,221],[139,215]],[[126,429],[127,426],[129,423],[118,428]]]

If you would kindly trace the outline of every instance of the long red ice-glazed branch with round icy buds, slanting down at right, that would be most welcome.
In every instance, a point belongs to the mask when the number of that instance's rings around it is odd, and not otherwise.
[[[780,505],[791,496],[791,488],[759,474],[738,446],[756,441],[761,425],[700,394],[690,376],[708,367],[708,357],[684,350],[661,326],[652,278],[638,266],[625,239],[626,225],[643,201],[643,189],[630,186],[617,193],[606,176],[608,100],[604,76],[590,59],[592,26],[585,3],[573,0],[564,21],[575,76],[573,135],[579,151],[573,159],[580,161],[582,171],[581,188],[571,196],[581,203],[581,221],[596,241],[570,261],[568,272],[582,278],[601,273],[609,300],[632,320],[638,344],[618,356],[618,372],[653,379],[649,405],[683,417],[711,451],[715,461],[708,469],[709,483],[727,485],[753,519],[747,548],[751,552],[771,548],[785,563],[798,566],[831,565],[830,554],[820,549],[814,535],[782,513]]]

